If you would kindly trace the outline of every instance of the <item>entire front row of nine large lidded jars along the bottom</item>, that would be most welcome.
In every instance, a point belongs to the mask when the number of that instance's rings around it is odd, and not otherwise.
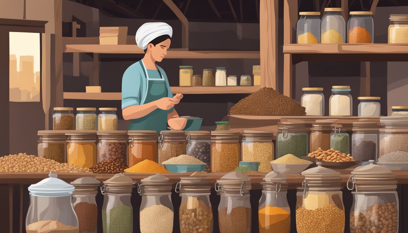
[[[395,175],[388,169],[373,164],[359,166],[351,172],[347,188],[352,190],[353,206],[350,214],[350,232],[397,233],[399,200]],[[317,167],[302,172],[304,181],[298,188],[296,230],[298,233],[343,233],[345,208],[341,192],[340,173]],[[98,208],[95,195],[100,184],[93,178],[80,178],[70,184],[50,174],[38,184],[29,187],[30,207],[26,218],[27,232],[38,232],[44,226],[55,232],[96,233]],[[136,182],[117,174],[103,182],[102,227],[104,233],[132,233],[132,188]],[[272,171],[264,178],[258,206],[259,232],[289,233],[290,207],[287,200],[288,183],[282,173]],[[155,174],[141,180],[137,192],[140,205],[141,233],[172,233],[174,207],[171,201],[173,183],[164,175]],[[213,208],[210,202],[211,186],[204,173],[182,177],[175,192],[182,197],[178,221],[181,233],[213,232]],[[224,175],[215,183],[221,195],[218,205],[220,233],[251,232],[251,179],[238,172]],[[72,193],[72,203],[71,203]],[[176,217],[177,221],[177,217]],[[57,222],[53,224],[52,222]],[[71,230],[71,231],[68,231]]]

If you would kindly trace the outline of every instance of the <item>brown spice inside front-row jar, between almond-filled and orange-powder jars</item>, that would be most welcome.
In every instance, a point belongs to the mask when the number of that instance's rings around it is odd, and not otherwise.
[[[225,207],[218,211],[221,233],[248,233],[251,231],[251,208]]]

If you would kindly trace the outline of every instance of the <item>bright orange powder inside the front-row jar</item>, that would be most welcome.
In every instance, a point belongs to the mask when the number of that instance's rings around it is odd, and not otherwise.
[[[266,206],[258,211],[259,233],[269,233],[271,231],[279,233],[289,233],[290,213],[282,208]]]

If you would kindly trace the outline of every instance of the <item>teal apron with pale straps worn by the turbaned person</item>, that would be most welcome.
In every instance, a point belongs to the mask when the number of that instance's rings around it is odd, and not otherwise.
[[[140,62],[142,63],[141,60]],[[144,67],[143,63],[141,65]],[[148,71],[144,69],[144,74],[147,78],[147,94],[144,104],[169,97],[166,81],[159,69],[157,69],[157,72],[159,73],[160,78],[149,78]],[[167,130],[167,115],[171,113],[171,111],[173,110],[155,109],[142,118],[131,120],[129,130],[154,130],[157,133]]]

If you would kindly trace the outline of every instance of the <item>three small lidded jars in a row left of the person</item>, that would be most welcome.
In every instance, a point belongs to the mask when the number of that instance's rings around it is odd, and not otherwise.
[[[77,108],[74,117],[73,108],[54,108],[53,130],[116,130],[118,129],[118,116],[116,108],[99,108],[100,114],[96,115],[96,108]],[[74,127],[75,126],[75,127]]]

